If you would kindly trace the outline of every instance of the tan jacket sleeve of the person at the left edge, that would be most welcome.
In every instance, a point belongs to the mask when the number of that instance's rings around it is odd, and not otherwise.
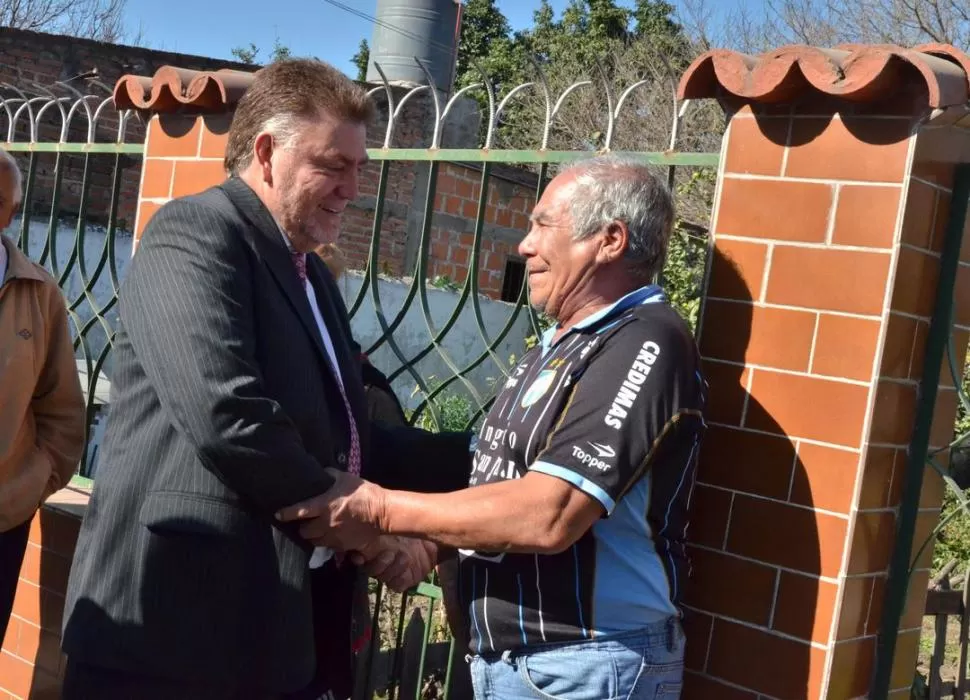
[[[58,291],[48,295],[47,355],[31,409],[37,426],[37,447],[52,469],[47,495],[71,480],[84,450],[84,396],[74,362],[67,307]]]

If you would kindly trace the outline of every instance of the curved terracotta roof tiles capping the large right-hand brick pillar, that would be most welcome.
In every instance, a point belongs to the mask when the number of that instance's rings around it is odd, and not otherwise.
[[[888,44],[833,49],[793,45],[760,56],[718,49],[697,57],[684,73],[678,92],[681,99],[699,99],[715,97],[723,89],[754,102],[772,103],[818,91],[870,102],[895,93],[900,81],[912,80],[913,69],[925,83],[931,107],[967,103],[970,58],[944,44],[915,49]]]

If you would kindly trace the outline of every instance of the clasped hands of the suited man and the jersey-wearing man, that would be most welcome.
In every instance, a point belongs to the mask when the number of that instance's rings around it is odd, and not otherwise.
[[[423,581],[437,559],[432,542],[384,535],[383,490],[346,472],[328,469],[329,490],[283,508],[283,522],[300,521],[300,535],[314,545],[347,552],[368,576],[402,592]]]

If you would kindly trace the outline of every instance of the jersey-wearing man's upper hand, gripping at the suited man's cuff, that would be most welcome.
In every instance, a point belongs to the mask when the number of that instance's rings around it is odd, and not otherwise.
[[[300,535],[315,545],[340,552],[376,554],[375,541],[383,516],[383,490],[360,477],[327,470],[334,485],[302,503],[276,514],[283,522],[302,520]]]

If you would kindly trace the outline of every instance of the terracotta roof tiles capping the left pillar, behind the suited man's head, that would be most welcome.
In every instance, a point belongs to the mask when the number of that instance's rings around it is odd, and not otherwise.
[[[119,110],[174,112],[192,109],[224,112],[232,109],[253,82],[253,74],[236,70],[195,71],[163,66],[151,78],[125,75],[115,84]]]

